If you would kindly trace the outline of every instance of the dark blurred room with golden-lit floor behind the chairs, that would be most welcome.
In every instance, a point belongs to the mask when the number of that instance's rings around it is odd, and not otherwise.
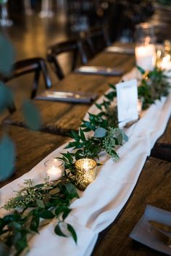
[[[158,43],[171,34],[171,0],[0,0],[0,11],[0,29],[14,46],[15,61],[46,59],[49,46],[80,38],[81,33],[93,28],[105,28],[111,42],[122,43],[135,40],[135,25],[140,22],[154,25]],[[69,62],[70,57],[62,57],[66,70]],[[53,83],[57,83],[57,75],[51,69],[49,72]],[[19,79],[9,83],[17,95],[17,104],[28,94],[29,87],[18,89],[25,83]]]

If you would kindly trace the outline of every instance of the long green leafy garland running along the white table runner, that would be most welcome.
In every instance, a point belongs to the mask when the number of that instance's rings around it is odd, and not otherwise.
[[[155,68],[145,75],[144,70],[138,67],[144,75],[141,86],[138,87],[138,96],[143,99],[143,109],[153,104],[155,99],[167,96],[170,84],[164,72]],[[99,109],[97,115],[88,113],[89,120],[83,120],[78,131],[72,131],[72,141],[66,149],[72,148],[72,152],[61,153],[60,159],[64,160],[64,177],[57,182],[46,180],[42,184],[35,185],[33,181],[25,181],[25,187],[17,192],[17,196],[9,199],[4,205],[6,210],[14,210],[12,214],[0,218],[0,250],[10,252],[15,250],[15,256],[28,248],[28,237],[38,233],[41,227],[41,218],[51,220],[57,218],[58,223],[54,232],[59,236],[70,234],[77,243],[77,235],[70,224],[64,220],[70,213],[70,203],[73,198],[78,198],[75,189],[75,161],[84,157],[99,159],[102,151],[119,160],[116,146],[128,141],[125,133],[118,128],[117,111],[111,103],[116,97],[116,88],[109,84],[111,91],[104,94],[104,101],[96,104]],[[86,137],[87,132],[93,132],[93,136]],[[98,164],[100,165],[100,164]],[[62,228],[63,226],[63,228]],[[67,233],[64,232],[67,230]]]

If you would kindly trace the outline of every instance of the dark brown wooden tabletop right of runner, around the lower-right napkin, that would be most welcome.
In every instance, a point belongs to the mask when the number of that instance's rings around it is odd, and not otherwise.
[[[101,233],[92,256],[162,255],[128,236],[143,215],[146,205],[171,211],[170,184],[171,163],[149,157],[127,205],[109,231]]]

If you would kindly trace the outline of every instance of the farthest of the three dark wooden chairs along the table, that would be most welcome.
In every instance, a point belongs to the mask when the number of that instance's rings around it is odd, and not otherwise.
[[[106,28],[93,28],[80,32],[80,38],[88,44],[91,57],[111,45]]]

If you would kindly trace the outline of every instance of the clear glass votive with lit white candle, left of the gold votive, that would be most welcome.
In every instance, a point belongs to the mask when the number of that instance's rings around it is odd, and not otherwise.
[[[46,177],[49,181],[57,181],[64,173],[64,161],[57,158],[49,159],[44,163]]]

